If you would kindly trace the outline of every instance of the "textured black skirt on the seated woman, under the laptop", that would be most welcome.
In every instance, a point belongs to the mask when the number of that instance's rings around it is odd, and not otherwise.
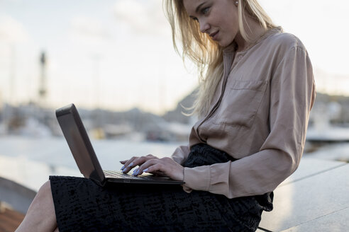
[[[184,166],[228,162],[206,144],[192,147]],[[50,176],[57,226],[65,231],[255,231],[272,192],[228,199],[181,186],[96,185],[87,178]]]

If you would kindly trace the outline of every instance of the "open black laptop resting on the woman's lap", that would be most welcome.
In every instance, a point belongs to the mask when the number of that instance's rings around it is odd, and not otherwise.
[[[84,175],[84,178],[90,178],[101,186],[104,186],[106,182],[161,185],[184,184],[182,181],[172,180],[150,173],[133,176],[122,173],[121,171],[102,170],[75,105],[70,104],[57,109],[56,117],[70,151],[72,151],[74,160],[80,172]]]

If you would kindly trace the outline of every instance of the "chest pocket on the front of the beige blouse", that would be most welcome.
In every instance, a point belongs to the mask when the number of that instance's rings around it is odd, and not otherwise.
[[[214,124],[248,127],[253,124],[267,81],[228,81],[221,103],[212,117]]]

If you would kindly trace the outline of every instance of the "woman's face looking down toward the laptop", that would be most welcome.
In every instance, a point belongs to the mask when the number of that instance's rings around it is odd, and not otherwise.
[[[236,0],[183,0],[190,18],[199,22],[201,33],[207,33],[226,47],[239,32]]]

